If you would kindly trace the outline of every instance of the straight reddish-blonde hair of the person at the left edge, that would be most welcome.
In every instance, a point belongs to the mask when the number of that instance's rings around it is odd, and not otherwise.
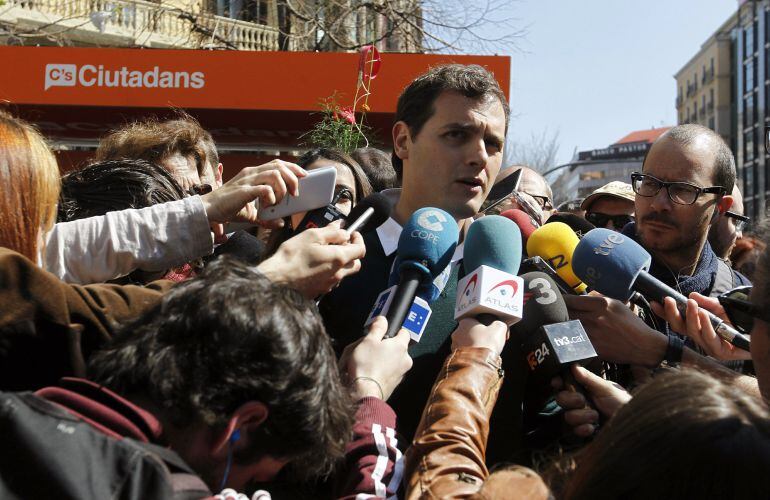
[[[0,110],[0,246],[37,261],[56,221],[59,167],[32,125]]]

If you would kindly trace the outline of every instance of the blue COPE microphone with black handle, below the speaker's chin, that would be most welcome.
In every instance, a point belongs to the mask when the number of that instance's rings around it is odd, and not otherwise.
[[[370,313],[370,317],[378,310],[385,314],[386,338],[394,337],[404,324],[418,288],[432,283],[449,265],[459,237],[457,222],[439,208],[421,208],[409,218],[398,239],[398,284],[377,297]]]

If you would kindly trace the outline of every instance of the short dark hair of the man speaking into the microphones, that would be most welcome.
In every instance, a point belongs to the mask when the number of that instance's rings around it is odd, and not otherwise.
[[[414,139],[433,113],[434,102],[444,92],[457,92],[471,99],[497,99],[503,105],[505,132],[508,133],[510,108],[505,93],[495,76],[477,64],[445,64],[431,68],[418,76],[401,93],[396,105],[394,122],[403,121]],[[398,178],[403,175],[404,164],[393,152],[393,168]]]

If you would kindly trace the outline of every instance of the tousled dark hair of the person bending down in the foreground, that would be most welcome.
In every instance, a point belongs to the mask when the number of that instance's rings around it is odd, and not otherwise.
[[[302,476],[328,473],[352,435],[352,402],[315,305],[246,265],[219,258],[125,325],[89,376],[142,395],[175,426],[224,427],[248,401],[269,409],[250,438]]]

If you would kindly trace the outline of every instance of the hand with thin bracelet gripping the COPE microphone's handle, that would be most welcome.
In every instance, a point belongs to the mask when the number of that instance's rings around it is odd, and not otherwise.
[[[388,320],[378,316],[367,334],[340,356],[340,372],[356,400],[371,396],[387,401],[412,367],[407,351],[409,332],[402,328],[395,337],[385,339],[387,329]]]

